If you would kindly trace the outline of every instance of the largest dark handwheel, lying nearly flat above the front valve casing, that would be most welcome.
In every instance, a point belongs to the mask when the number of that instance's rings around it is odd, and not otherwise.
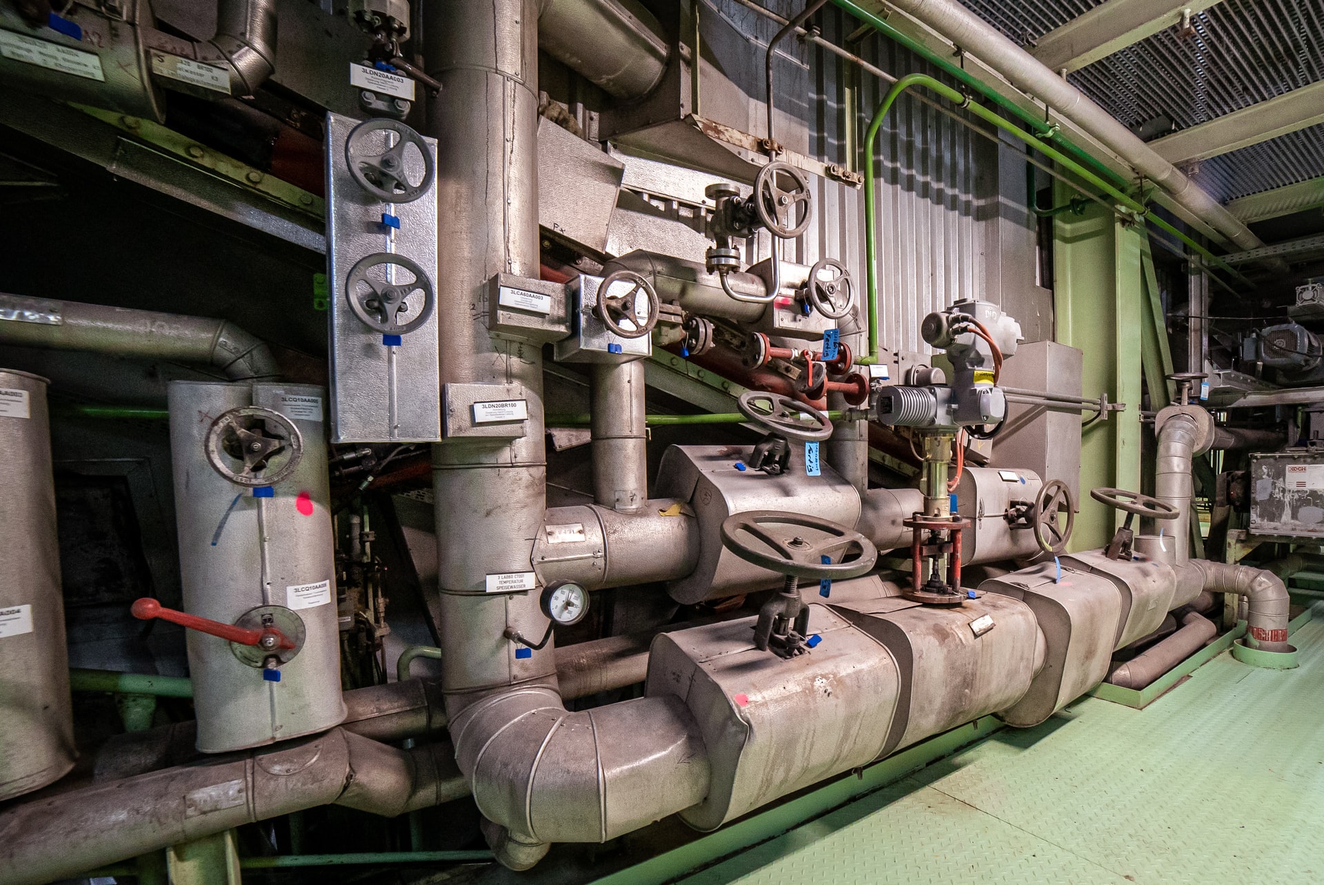
[[[806,580],[859,578],[878,560],[858,531],[777,510],[731,514],[722,521],[722,543],[745,562]]]

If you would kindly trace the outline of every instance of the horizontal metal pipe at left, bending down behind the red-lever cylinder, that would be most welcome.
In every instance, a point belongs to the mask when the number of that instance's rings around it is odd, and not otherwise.
[[[0,344],[213,366],[232,382],[274,379],[271,348],[225,319],[0,295]]]

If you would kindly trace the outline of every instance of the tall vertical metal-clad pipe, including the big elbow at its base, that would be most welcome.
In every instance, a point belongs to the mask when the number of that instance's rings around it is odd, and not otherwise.
[[[692,806],[708,776],[678,702],[567,713],[553,644],[526,651],[508,639],[544,633],[538,594],[486,592],[489,575],[530,572],[545,509],[542,351],[493,338],[467,307],[496,273],[538,276],[538,9],[535,0],[424,5],[428,73],[444,85],[428,114],[445,207],[441,379],[519,386],[528,403],[523,437],[433,450],[450,733],[489,843],[514,869],[536,864],[551,840],[601,841]]]

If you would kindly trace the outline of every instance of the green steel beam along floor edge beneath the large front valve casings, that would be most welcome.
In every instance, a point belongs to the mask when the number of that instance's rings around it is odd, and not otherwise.
[[[772,806],[691,843],[597,880],[598,885],[661,885],[733,852],[752,848],[818,817],[837,806],[886,787],[894,780],[982,741],[1002,727],[986,715],[929,738],[882,762],[839,775],[813,792]]]

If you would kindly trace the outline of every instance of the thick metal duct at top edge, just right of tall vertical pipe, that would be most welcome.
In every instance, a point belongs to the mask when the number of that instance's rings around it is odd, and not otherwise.
[[[626,101],[653,91],[671,56],[662,23],[637,0],[539,0],[538,45]]]

